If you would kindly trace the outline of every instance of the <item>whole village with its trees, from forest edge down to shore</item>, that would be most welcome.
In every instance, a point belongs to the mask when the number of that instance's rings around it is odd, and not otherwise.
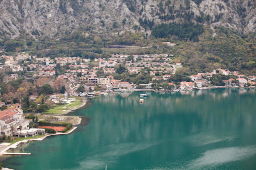
[[[216,68],[185,75],[172,54],[124,55],[109,58],[0,56],[0,93],[5,106],[19,103],[25,112],[41,113],[70,103],[72,96],[90,96],[120,90],[182,91],[211,86],[255,85],[254,75]],[[22,126],[23,127],[23,126]]]

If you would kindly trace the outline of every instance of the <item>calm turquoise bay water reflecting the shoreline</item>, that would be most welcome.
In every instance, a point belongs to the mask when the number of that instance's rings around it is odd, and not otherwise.
[[[89,117],[70,135],[22,144],[14,170],[255,170],[254,89],[115,93],[72,115]],[[25,147],[24,147],[25,146]]]

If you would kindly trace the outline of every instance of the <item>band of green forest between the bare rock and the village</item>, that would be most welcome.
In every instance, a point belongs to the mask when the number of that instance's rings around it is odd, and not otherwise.
[[[213,36],[213,33],[216,35]],[[29,51],[38,57],[74,57],[107,58],[111,54],[159,54],[174,55],[174,61],[182,62],[183,71],[192,74],[212,71],[216,68],[240,71],[243,74],[256,75],[256,34],[241,34],[230,28],[215,27],[187,23],[168,23],[156,25],[152,34],[125,31],[108,37],[88,32],[84,36],[80,31],[66,32],[59,40],[42,37],[20,36],[14,40],[3,40],[0,47],[6,55]],[[167,46],[163,41],[176,43]],[[151,48],[107,48],[108,45],[138,45]]]

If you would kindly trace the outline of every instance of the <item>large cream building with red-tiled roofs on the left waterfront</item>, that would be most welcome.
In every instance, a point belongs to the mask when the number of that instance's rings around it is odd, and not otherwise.
[[[0,102],[2,105],[4,103]],[[19,103],[0,111],[0,136],[28,137],[44,133],[44,129],[29,129],[29,121],[25,120]]]

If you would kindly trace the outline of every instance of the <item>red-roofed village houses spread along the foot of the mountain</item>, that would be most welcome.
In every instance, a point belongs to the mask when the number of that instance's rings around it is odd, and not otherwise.
[[[226,76],[233,75],[236,77],[222,80],[223,85],[250,86],[255,85],[255,76],[240,75],[237,71],[217,68],[211,73],[198,73],[187,76],[190,81],[181,81],[180,84],[174,84],[171,75],[175,70],[182,67],[181,63],[173,63],[172,54],[155,54],[155,55],[122,55],[112,54],[109,58],[90,59],[80,57],[48,57],[29,56],[28,54],[18,54],[17,56],[0,56],[0,71],[7,76],[8,81],[17,78],[26,79],[29,82],[35,82],[42,77],[53,81],[62,80],[62,84],[67,89],[68,96],[78,95],[77,88],[82,84],[84,92],[92,91],[110,91],[113,89],[131,90],[135,88],[152,89],[154,83],[171,85],[171,89],[193,89],[202,88],[210,84],[210,77],[216,73]],[[130,75],[137,75],[142,70],[150,75],[146,83],[135,84],[135,82],[122,81],[114,76],[120,74],[117,70],[123,68],[123,72]],[[57,71],[60,70],[61,71]],[[234,82],[236,80],[236,82]],[[64,83],[65,82],[65,83]],[[47,82],[45,82],[47,83]],[[96,87],[96,90],[94,89]],[[166,90],[166,89],[165,89]],[[167,89],[169,90],[169,89]],[[81,90],[80,92],[83,92]],[[2,94],[3,95],[3,94]],[[31,95],[30,98],[33,98]]]

